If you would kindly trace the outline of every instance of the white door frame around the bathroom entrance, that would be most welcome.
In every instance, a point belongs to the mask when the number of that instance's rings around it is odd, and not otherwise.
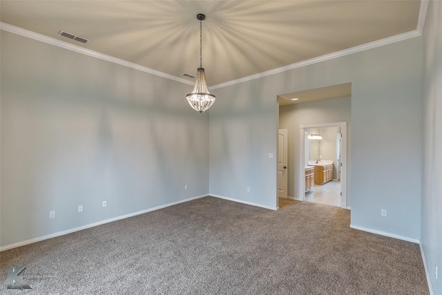
[[[343,135],[340,149],[342,153],[340,169],[340,207],[347,209],[347,122],[323,124],[301,124],[299,133],[299,200],[305,200],[305,129],[322,127],[340,127]]]

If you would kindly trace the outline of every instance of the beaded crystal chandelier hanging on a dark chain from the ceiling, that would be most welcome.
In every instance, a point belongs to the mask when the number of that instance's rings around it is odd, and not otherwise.
[[[202,113],[215,102],[215,95],[209,93],[206,84],[206,73],[204,73],[204,68],[202,67],[202,21],[206,19],[206,16],[200,13],[196,18],[200,21],[200,68],[198,68],[196,73],[195,87],[192,93],[186,95],[186,98],[195,111]]]

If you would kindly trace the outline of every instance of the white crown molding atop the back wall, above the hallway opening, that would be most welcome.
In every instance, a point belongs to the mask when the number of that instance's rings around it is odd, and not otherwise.
[[[345,50],[340,50],[340,51],[336,51],[336,53],[329,53],[327,55],[321,55],[320,57],[314,57],[312,59],[307,59],[305,61],[300,61],[297,62],[296,64],[289,64],[288,66],[282,66],[280,68],[273,68],[272,70],[267,70],[266,72],[262,72],[262,73],[258,73],[255,75],[250,75],[247,77],[242,77],[240,79],[236,79],[236,80],[232,80],[229,82],[225,82],[222,84],[217,84],[217,85],[213,85],[211,87],[209,87],[210,90],[213,89],[217,89],[217,88],[222,88],[222,87],[226,87],[226,86],[231,86],[234,84],[238,84],[238,83],[242,83],[242,82],[247,82],[247,81],[251,81],[254,79],[258,79],[261,77],[267,77],[270,75],[275,75],[278,73],[282,73],[285,72],[287,70],[293,70],[294,68],[301,68],[303,66],[309,66],[311,64],[317,64],[318,62],[321,61],[327,61],[330,59],[336,59],[337,57],[343,57],[345,55],[351,55],[353,53],[359,53],[361,51],[365,51],[365,50],[369,50],[372,48],[376,48],[376,47],[381,47],[381,46],[385,46],[387,44],[392,44],[392,43],[396,43],[398,41],[403,41],[406,39],[411,39],[414,37],[419,37],[421,36],[421,32],[419,32],[418,30],[412,30],[410,32],[404,32],[403,34],[399,34],[399,35],[395,35],[392,37],[387,37],[385,39],[381,39],[381,40],[377,40],[377,41],[372,41],[363,45],[359,45],[359,46],[354,46],[352,48],[347,48]]]

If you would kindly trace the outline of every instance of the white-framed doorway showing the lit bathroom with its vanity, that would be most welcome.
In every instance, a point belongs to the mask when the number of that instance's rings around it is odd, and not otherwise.
[[[340,132],[336,134],[333,134],[332,131],[332,137],[334,140],[332,140],[331,144],[336,144],[336,151],[333,151],[334,155],[327,155],[327,159],[323,159],[322,152],[320,152],[319,141],[318,138],[322,137],[316,137],[311,136],[313,132],[320,133],[320,131],[327,129],[328,127],[334,127],[331,130],[339,130]],[[314,135],[320,135],[316,134]],[[338,135],[339,134],[339,135]],[[314,140],[312,140],[314,138]],[[314,149],[314,151],[311,151],[311,149]],[[313,154],[312,154],[313,153]],[[338,154],[339,153],[339,154]],[[336,158],[335,158],[336,157]],[[339,197],[340,202],[337,204],[340,205],[342,208],[347,208],[347,122],[336,122],[336,123],[326,123],[326,124],[302,124],[300,125],[300,191],[299,196],[302,196],[302,200],[306,200],[306,183],[305,182],[305,167],[309,166],[315,166],[315,174],[318,175],[318,173],[321,173],[320,175],[323,176],[323,178],[320,178],[318,182],[315,178],[315,184],[322,184],[325,182],[329,182],[331,177],[334,178],[334,182],[325,183],[317,187],[317,192],[320,191],[323,194],[326,193],[332,193],[332,191],[336,191],[336,189],[339,189]],[[330,159],[328,159],[330,158]],[[330,162],[330,163],[329,163]],[[332,164],[332,165],[330,165]],[[329,167],[332,167],[333,171],[329,171]],[[318,167],[318,169],[316,169]],[[322,170],[321,170],[322,169]],[[325,171],[324,169],[327,169]],[[319,171],[321,170],[321,171]],[[322,174],[323,173],[323,174]],[[332,177],[331,175],[334,175]],[[327,178],[327,179],[326,179]],[[339,184],[336,182],[336,178],[339,178]],[[307,200],[308,200],[307,196]],[[334,201],[331,201],[334,202]],[[336,203],[332,203],[333,205],[336,205]]]

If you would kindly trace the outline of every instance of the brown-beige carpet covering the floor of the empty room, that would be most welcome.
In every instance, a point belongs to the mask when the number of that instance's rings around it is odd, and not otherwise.
[[[428,294],[419,245],[349,228],[349,211],[202,198],[0,252],[32,290],[1,294]]]

